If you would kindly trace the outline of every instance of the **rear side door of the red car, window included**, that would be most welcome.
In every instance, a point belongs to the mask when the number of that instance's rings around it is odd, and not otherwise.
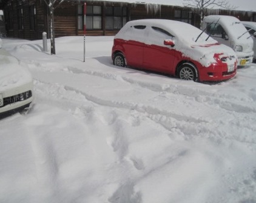
[[[129,40],[124,40],[123,47],[129,66],[143,68],[145,30],[145,25],[133,25],[126,31]]]

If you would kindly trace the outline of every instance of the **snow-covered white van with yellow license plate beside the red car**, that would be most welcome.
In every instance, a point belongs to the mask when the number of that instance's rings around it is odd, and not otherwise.
[[[211,15],[203,19],[202,29],[211,34],[219,43],[223,43],[237,54],[238,65],[252,63],[254,42],[241,21],[233,16]]]

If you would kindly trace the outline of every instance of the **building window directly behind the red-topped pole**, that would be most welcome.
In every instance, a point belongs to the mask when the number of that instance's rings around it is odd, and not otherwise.
[[[84,5],[78,5],[78,30],[83,30]],[[86,6],[86,30],[102,30],[101,6]]]

